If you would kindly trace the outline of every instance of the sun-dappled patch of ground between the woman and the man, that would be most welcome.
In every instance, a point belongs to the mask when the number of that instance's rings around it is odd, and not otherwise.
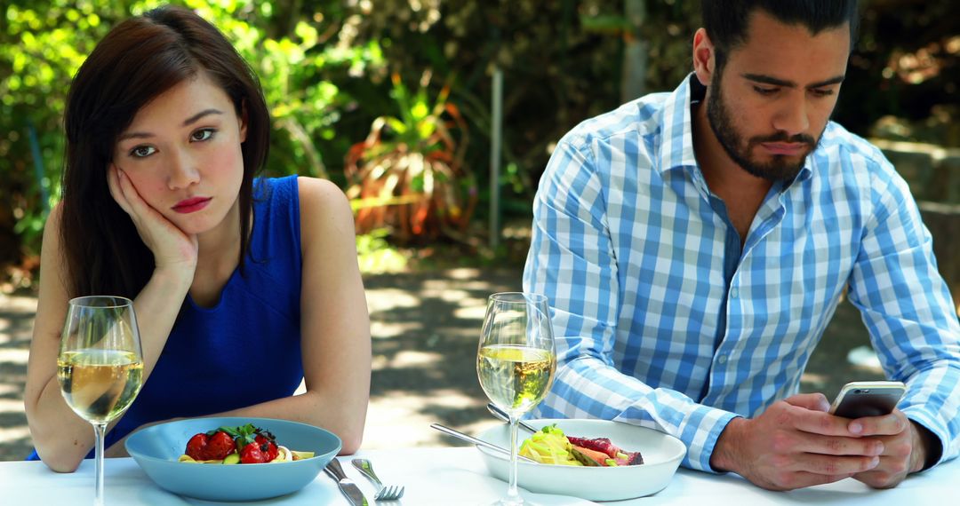
[[[457,268],[365,284],[373,374],[363,448],[463,446],[430,424],[468,433],[499,424],[477,381],[476,350],[487,297],[520,289],[520,272]]]

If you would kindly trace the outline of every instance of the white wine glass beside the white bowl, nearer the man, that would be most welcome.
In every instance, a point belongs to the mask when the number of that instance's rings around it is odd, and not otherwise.
[[[522,504],[516,491],[516,423],[543,400],[557,370],[546,296],[492,294],[481,334],[477,352],[480,386],[510,415],[510,488],[499,504]]]

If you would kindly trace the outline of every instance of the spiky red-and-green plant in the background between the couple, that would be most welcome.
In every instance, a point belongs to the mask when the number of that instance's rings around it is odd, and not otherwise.
[[[345,171],[360,232],[390,227],[401,241],[460,239],[476,203],[476,183],[463,168],[466,123],[447,102],[444,85],[429,98],[430,73],[411,94],[394,74],[397,116],[380,116],[350,148]],[[454,132],[457,132],[456,134]]]

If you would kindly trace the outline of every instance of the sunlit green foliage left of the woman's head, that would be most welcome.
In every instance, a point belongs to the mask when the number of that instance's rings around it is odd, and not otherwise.
[[[10,214],[0,212],[0,227],[12,228],[28,251],[36,252],[46,210],[60,193],[66,83],[118,10],[58,0],[5,11],[0,12],[0,207]],[[31,152],[31,135],[40,163]],[[43,202],[43,195],[50,200]],[[15,224],[5,222],[11,218]],[[9,260],[14,259],[0,258]]]

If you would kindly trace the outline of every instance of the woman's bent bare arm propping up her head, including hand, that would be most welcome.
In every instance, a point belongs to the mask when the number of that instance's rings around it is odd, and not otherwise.
[[[147,227],[152,230],[152,237],[156,242],[149,245],[155,251],[155,256],[158,257],[156,252],[162,247],[164,250],[177,251],[182,257],[182,262],[177,265],[158,264],[147,286],[133,301],[143,348],[143,379],[146,381],[154,370],[160,352],[163,351],[183,297],[190,288],[193,279],[192,265],[196,265],[196,240],[183,235],[162,217],[159,217],[162,222],[157,221],[156,211],[139,198],[129,180],[119,179],[113,170],[109,178],[111,193],[121,207],[131,214],[141,237],[146,233]],[[93,448],[94,436],[92,426],[77,416],[63,401],[57,381],[60,332],[70,299],[69,289],[65,284],[67,273],[63,261],[63,245],[60,244],[61,213],[58,205],[51,212],[43,231],[39,300],[30,346],[24,404],[31,436],[40,459],[54,471],[73,472]],[[173,227],[173,230],[169,227]],[[161,242],[159,246],[155,245],[157,242]],[[115,423],[116,421],[113,422]]]

